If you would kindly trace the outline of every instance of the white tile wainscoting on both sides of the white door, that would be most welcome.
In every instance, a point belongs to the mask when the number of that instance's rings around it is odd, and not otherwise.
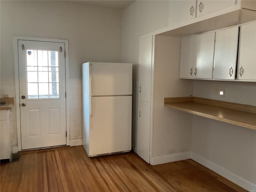
[[[16,116],[16,99],[15,86],[1,86],[0,97],[4,94],[14,97],[14,107],[11,111],[12,117],[12,146],[18,146],[17,140],[17,116]],[[70,98],[70,140],[82,138],[82,79],[69,79],[69,98]]]

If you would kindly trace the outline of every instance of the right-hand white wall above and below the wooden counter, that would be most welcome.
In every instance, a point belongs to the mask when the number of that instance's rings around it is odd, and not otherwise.
[[[194,96],[256,106],[256,84],[194,80]],[[191,151],[256,184],[256,130],[193,116]]]

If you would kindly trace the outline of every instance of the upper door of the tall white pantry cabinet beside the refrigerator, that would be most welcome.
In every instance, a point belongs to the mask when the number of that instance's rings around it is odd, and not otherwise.
[[[151,102],[153,36],[140,39],[139,52],[139,100]]]

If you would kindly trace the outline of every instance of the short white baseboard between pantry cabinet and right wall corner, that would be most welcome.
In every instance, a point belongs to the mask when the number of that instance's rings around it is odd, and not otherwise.
[[[150,164],[158,165],[158,164],[170,163],[170,162],[181,161],[186,159],[190,159],[190,151],[173,153],[173,154],[168,154],[168,155],[159,156],[159,157],[153,157],[152,162],[150,162]]]

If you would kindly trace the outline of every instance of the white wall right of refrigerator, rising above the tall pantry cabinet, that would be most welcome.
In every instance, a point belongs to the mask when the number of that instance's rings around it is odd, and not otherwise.
[[[122,62],[133,64],[132,142],[137,138],[140,36],[168,26],[168,1],[135,1],[122,12]]]

